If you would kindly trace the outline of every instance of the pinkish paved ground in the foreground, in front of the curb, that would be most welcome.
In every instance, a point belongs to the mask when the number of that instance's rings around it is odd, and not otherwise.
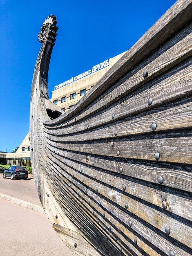
[[[45,214],[0,198],[1,256],[72,256]]]

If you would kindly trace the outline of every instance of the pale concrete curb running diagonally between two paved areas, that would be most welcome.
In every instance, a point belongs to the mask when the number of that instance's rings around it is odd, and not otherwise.
[[[9,195],[4,195],[2,193],[0,193],[0,198],[5,199],[13,204],[18,204],[18,205],[21,205],[22,207],[45,214],[45,211],[43,210],[42,206],[39,206],[37,204],[32,204],[32,203],[20,200],[18,198],[13,198],[12,196],[9,196]]]

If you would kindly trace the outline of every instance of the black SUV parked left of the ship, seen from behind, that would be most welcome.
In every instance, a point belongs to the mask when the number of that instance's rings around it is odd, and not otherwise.
[[[28,170],[26,166],[18,166],[18,165],[11,165],[8,169],[5,169],[3,172],[3,178],[11,177],[11,180],[14,178],[22,178],[27,180],[28,178]]]

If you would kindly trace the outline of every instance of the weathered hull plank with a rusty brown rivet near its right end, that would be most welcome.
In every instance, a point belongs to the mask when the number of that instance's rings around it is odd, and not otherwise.
[[[60,161],[61,164],[64,163],[64,161],[61,160],[60,157],[57,156],[56,154],[54,154],[54,157],[56,158],[56,163],[58,163],[58,161]],[[134,195],[137,198],[141,198],[142,200],[150,202],[151,204],[154,204],[161,208],[162,208],[162,202],[166,201],[166,204],[167,204],[166,211],[170,211],[171,213],[174,213],[178,216],[181,216],[182,218],[192,221],[192,217],[189,216],[189,211],[192,211],[190,194],[188,195],[185,194],[185,198],[183,198],[181,196],[172,194],[173,191],[165,192],[163,189],[162,191],[159,190],[159,187],[156,188],[153,186],[149,186],[149,184],[146,184],[146,183],[140,184],[136,181],[125,180],[121,177],[116,177],[111,173],[98,171],[95,168],[84,166],[80,164],[80,162],[74,162],[74,161],[71,161],[70,159],[67,159],[65,161],[66,161],[65,166],[70,166],[72,169],[74,169],[74,177],[76,177],[75,171],[82,172],[82,174],[86,175],[87,177],[91,177],[96,181],[100,181],[109,186],[112,186],[113,188],[119,189],[121,191],[125,191],[130,195]],[[125,186],[125,190],[123,189],[123,186]]]

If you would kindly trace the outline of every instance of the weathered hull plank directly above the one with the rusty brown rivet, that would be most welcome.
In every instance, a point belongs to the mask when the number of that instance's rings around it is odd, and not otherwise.
[[[49,144],[49,140],[47,140]],[[60,157],[71,158],[82,164],[88,164],[92,166],[94,162],[95,167],[99,167],[108,171],[121,173],[137,179],[145,180],[148,182],[154,182],[159,184],[158,177],[163,177],[163,186],[170,186],[176,189],[192,192],[192,168],[188,165],[175,166],[164,163],[155,162],[150,163],[146,161],[135,162],[132,159],[106,159],[94,155],[83,155],[82,153],[75,153],[73,151],[63,151],[60,149],[51,148],[60,155]],[[66,159],[64,159],[66,161]],[[191,170],[191,171],[190,171]],[[174,179],[173,179],[174,177]]]

